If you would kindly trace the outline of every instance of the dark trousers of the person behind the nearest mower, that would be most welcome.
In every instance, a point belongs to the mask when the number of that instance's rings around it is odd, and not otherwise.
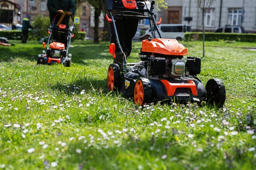
[[[121,20],[115,21],[121,47],[123,51],[128,53],[127,56],[130,55],[130,52],[132,50],[132,38],[136,34],[138,23],[139,23],[139,19],[134,19],[134,18],[123,18]],[[120,52],[117,46],[117,41],[116,41],[115,32],[114,32],[112,23],[110,26],[110,31],[111,31],[110,43],[115,43],[116,45],[115,52]]]

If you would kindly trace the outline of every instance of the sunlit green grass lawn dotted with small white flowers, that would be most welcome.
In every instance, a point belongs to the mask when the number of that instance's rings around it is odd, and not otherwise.
[[[256,169],[255,43],[205,42],[198,77],[223,108],[148,104],[107,90],[108,42],[72,42],[72,65],[36,65],[36,41],[0,46],[0,169]],[[202,42],[182,42],[202,56]],[[128,62],[138,62],[133,43]]]

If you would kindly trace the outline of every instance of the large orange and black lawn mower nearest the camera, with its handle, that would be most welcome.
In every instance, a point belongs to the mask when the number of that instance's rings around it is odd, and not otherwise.
[[[151,102],[203,103],[222,107],[225,103],[225,86],[218,78],[209,79],[204,87],[196,76],[201,71],[199,57],[184,57],[187,49],[175,39],[163,38],[155,20],[153,5],[147,0],[106,0],[118,48],[122,54],[122,62],[115,55],[115,44],[109,46],[114,62],[108,68],[107,83],[110,91],[118,90],[131,96],[135,104],[141,106]],[[120,14],[112,15],[112,10],[120,10]],[[140,61],[128,63],[123,51],[115,19],[120,17],[139,18],[149,21],[151,34],[144,34]],[[158,33],[160,38],[155,38]]]

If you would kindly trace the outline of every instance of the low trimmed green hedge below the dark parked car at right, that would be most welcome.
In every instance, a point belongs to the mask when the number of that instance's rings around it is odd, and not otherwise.
[[[229,40],[229,41],[240,41],[240,42],[256,42],[255,33],[213,33],[206,32],[204,36],[205,41],[219,41],[219,40]],[[191,32],[185,33],[184,41],[202,41],[202,32]]]

